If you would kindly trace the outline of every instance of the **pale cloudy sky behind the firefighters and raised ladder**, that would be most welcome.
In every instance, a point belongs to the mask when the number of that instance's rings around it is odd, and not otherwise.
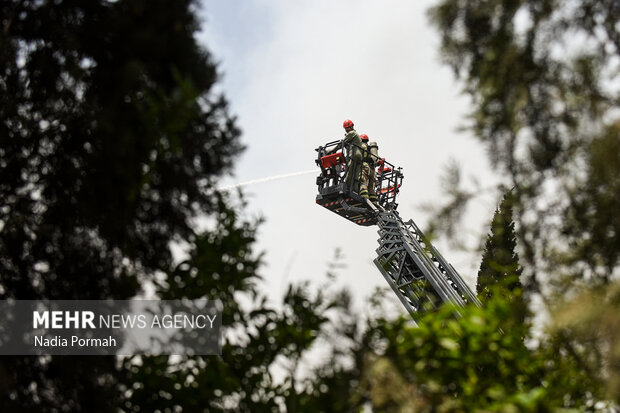
[[[287,283],[324,281],[337,248],[345,265],[337,284],[351,288],[359,308],[376,286],[387,286],[372,262],[377,227],[357,226],[315,203],[314,149],[341,139],[343,120],[352,119],[377,141],[380,156],[403,168],[398,211],[421,228],[428,219],[421,205],[441,202],[440,178],[450,162],[466,182],[495,182],[483,148],[457,131],[469,101],[440,63],[439,35],[426,13],[434,3],[203,0],[198,39],[218,62],[219,88],[247,147],[222,185],[254,182],[243,191],[247,216],[265,219],[256,248],[265,252],[260,273],[272,299]],[[265,179],[286,174],[295,175]],[[466,216],[462,235],[472,251],[445,239],[434,244],[472,288],[475,249],[496,202],[481,193]]]

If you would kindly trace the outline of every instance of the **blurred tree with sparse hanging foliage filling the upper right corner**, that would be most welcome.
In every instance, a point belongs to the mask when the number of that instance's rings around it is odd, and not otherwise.
[[[604,213],[599,222],[577,224],[571,199],[590,208],[599,204],[595,192],[614,199],[612,186],[601,185],[597,175],[584,179],[580,171],[600,169],[593,163],[603,159],[591,156],[593,150],[618,149],[612,141],[620,92],[610,86],[620,55],[618,2],[444,0],[430,14],[443,59],[472,98],[468,129],[487,148],[505,186],[514,188],[524,287],[544,292],[549,284],[539,278],[556,280],[559,270],[608,282],[618,265],[614,248],[574,255],[566,245],[572,230],[617,245],[617,220]],[[603,139],[607,135],[614,138]],[[605,168],[617,176],[617,164]],[[618,204],[608,207],[617,210]]]

